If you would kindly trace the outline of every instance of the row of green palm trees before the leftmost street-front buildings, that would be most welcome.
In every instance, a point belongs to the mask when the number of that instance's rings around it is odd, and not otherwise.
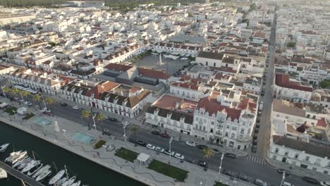
[[[16,96],[16,97],[21,97],[22,98],[22,101],[24,101],[24,99],[28,96],[30,96],[30,92],[27,92],[26,90],[21,90],[21,89],[18,89],[16,87],[4,87],[3,88],[3,92],[8,95],[8,94],[11,94],[13,96]],[[42,107],[41,107],[41,103],[44,102],[45,106],[46,104],[50,107],[49,109],[51,109],[51,105],[55,104],[55,100],[54,99],[51,99],[50,97],[47,97],[46,99],[44,99],[44,97],[42,97],[42,95],[40,94],[34,94],[33,97],[32,97],[32,100],[37,102],[39,104],[39,109],[41,110]],[[51,109],[52,111],[52,109]]]

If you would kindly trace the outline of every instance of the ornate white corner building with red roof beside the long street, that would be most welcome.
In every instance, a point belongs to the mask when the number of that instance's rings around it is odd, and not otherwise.
[[[194,113],[193,135],[233,149],[247,149],[257,116],[257,104],[238,90],[213,90],[200,99]]]

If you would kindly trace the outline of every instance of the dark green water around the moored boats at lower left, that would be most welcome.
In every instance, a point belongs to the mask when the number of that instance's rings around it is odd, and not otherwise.
[[[66,165],[70,175],[76,175],[82,184],[90,186],[102,185],[130,185],[130,186],[145,186],[124,175],[116,173],[99,166],[92,161],[88,161],[78,155],[72,154],[65,149],[55,146],[49,142],[41,140],[33,135],[13,128],[5,123],[0,122],[0,144],[11,143],[7,151],[0,153],[0,160],[4,161],[8,154],[13,151],[13,148],[18,150],[26,150],[29,156],[32,156],[32,151],[35,153],[35,158],[42,161],[44,164],[49,164],[53,173],[56,173],[56,168],[60,171]],[[12,178],[8,175],[7,179],[0,180],[0,186],[20,186],[20,180]]]

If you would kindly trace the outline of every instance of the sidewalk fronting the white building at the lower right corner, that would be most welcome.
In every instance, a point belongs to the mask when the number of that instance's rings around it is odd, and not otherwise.
[[[325,174],[322,174],[322,173],[319,173],[316,171],[312,171],[310,169],[293,166],[291,164],[283,163],[281,161],[276,161],[274,159],[269,159],[268,157],[265,158],[265,160],[267,161],[267,163],[269,163],[270,166],[272,166],[274,168],[283,168],[283,169],[290,171],[291,173],[293,173],[295,175],[300,175],[302,177],[307,176],[307,177],[315,178],[317,180],[323,180],[326,182],[330,182],[329,175],[325,175]]]

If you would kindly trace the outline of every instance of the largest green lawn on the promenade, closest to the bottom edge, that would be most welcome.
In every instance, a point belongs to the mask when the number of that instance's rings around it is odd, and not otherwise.
[[[178,181],[184,182],[185,178],[188,177],[188,171],[182,170],[175,166],[171,166],[161,161],[153,160],[148,166],[149,169],[154,170],[158,173],[162,173],[171,178],[175,178]]]

